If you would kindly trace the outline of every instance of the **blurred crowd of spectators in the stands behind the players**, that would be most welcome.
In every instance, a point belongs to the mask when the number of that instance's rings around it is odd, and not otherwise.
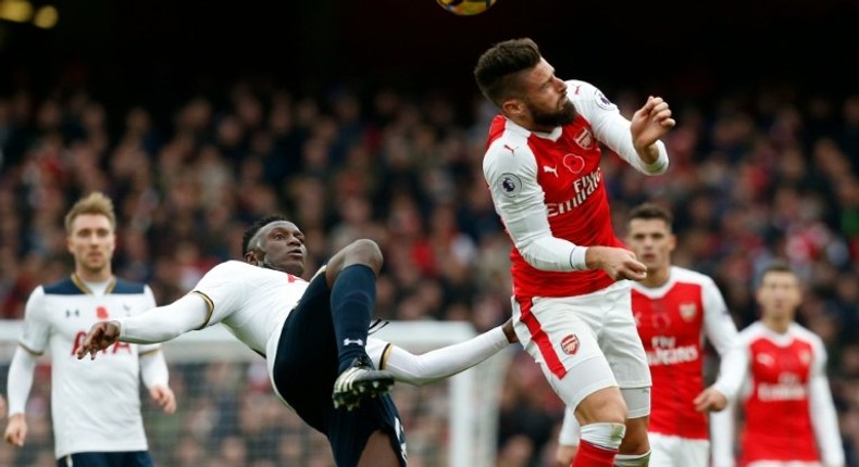
[[[603,90],[627,116],[648,92]],[[848,463],[859,465],[859,93],[663,97],[679,122],[669,173],[605,160],[619,234],[639,202],[673,210],[675,263],[711,275],[740,328],[756,319],[756,273],[787,260],[806,287],[799,320],[827,345]],[[85,87],[12,89],[0,96],[0,317],[21,318],[37,283],[70,273],[62,216],[103,190],[120,215],[114,270],[149,283],[159,303],[238,258],[251,222],[283,213],[304,231],[311,264],[359,237],[378,242],[378,317],[496,326],[510,313],[510,242],[481,174],[493,115],[476,91],[302,94],[258,78],[177,97],[169,112],[115,109]],[[498,465],[550,465],[562,407],[525,354],[500,391]],[[49,431],[29,419],[32,437]],[[261,442],[228,439],[235,450]]]

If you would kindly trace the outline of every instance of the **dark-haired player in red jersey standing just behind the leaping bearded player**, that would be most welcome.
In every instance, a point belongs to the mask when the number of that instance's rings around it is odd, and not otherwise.
[[[647,277],[633,282],[632,307],[650,376],[650,465],[707,467],[710,456],[707,416],[721,411],[738,388],[738,378],[722,367],[720,379],[704,389],[704,336],[722,363],[736,351],[737,330],[715,282],[671,264],[676,247],[673,215],[645,203],[630,212],[626,244],[647,266]],[[569,466],[577,447],[577,425],[570,411],[559,434],[558,463]]]

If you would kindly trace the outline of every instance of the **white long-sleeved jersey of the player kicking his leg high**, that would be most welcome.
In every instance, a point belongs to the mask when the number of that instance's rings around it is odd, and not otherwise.
[[[271,377],[284,323],[308,285],[289,274],[227,261],[209,270],[185,298],[121,319],[121,337],[134,342],[163,342],[222,323],[242,343],[266,356]],[[419,356],[370,337],[366,352],[377,368],[390,370],[398,381],[424,384],[468,369],[507,345],[507,337],[498,327]]]

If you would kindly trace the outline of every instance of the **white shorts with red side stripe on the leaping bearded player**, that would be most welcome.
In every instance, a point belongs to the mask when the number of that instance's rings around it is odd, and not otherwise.
[[[627,281],[587,295],[512,302],[519,341],[568,407],[577,407],[603,388],[649,392],[650,368],[635,327]],[[649,402],[647,407],[628,408],[630,418],[650,413]]]

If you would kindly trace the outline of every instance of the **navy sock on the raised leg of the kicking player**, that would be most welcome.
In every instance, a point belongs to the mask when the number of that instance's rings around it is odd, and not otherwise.
[[[366,355],[366,335],[376,305],[376,275],[369,266],[354,264],[340,270],[331,290],[331,313],[337,338],[337,373]]]

